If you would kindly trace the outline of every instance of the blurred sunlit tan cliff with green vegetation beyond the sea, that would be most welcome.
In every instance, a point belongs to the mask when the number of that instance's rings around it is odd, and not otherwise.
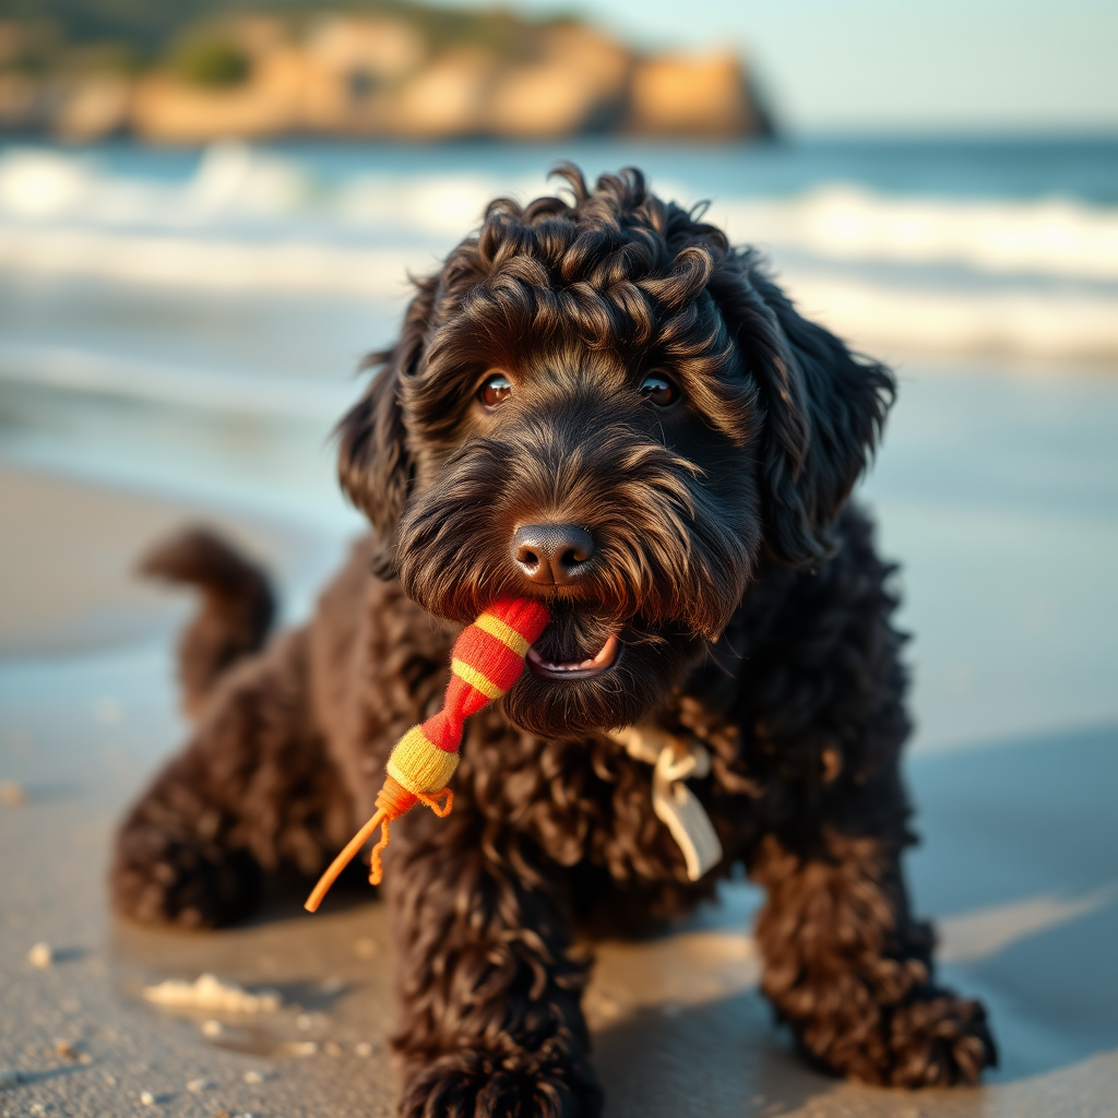
[[[0,131],[171,143],[769,131],[728,53],[646,56],[575,20],[495,11],[291,8],[196,18],[154,46],[149,27],[146,58],[126,28],[82,41],[73,20],[0,22]]]

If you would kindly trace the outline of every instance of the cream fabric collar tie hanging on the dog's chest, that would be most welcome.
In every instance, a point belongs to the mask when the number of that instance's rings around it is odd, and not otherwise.
[[[693,738],[683,738],[659,726],[628,726],[609,737],[638,761],[653,766],[652,806],[683,852],[688,878],[698,881],[722,860],[722,844],[707,809],[684,784],[710,773],[710,752]]]

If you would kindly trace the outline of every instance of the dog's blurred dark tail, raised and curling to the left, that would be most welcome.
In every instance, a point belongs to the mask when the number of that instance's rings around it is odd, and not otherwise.
[[[196,719],[218,679],[264,644],[276,603],[267,576],[205,528],[190,528],[144,556],[140,572],[202,591],[179,639],[182,709]]]

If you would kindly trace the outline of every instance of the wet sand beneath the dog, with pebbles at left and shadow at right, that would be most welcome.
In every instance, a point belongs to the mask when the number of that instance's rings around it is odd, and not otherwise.
[[[222,517],[10,468],[0,502],[0,780],[26,796],[0,804],[0,1067],[20,1073],[0,1116],[390,1112],[394,964],[363,888],[312,919],[302,887],[277,884],[249,923],[205,935],[107,911],[115,821],[183,733],[170,650],[186,607],[129,572],[174,524]],[[224,527],[281,580],[320,546],[263,521]],[[909,773],[918,907],[939,922],[945,977],[987,1001],[1002,1069],[980,1089],[919,1095],[806,1069],[757,993],[743,929],[759,898],[735,883],[686,926],[599,950],[587,1006],[607,1115],[1118,1115],[1118,726],[917,754]],[[56,953],[44,968],[28,961],[40,941]],[[207,1035],[221,1015],[141,996],[205,972],[278,988],[285,1006]]]

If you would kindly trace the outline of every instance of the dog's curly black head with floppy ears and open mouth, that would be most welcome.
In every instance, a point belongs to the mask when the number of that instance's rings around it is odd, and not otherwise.
[[[538,595],[505,699],[543,735],[639,720],[718,638],[765,549],[811,567],[892,394],[757,258],[639,172],[499,199],[418,283],[340,426],[340,473],[426,609]]]

